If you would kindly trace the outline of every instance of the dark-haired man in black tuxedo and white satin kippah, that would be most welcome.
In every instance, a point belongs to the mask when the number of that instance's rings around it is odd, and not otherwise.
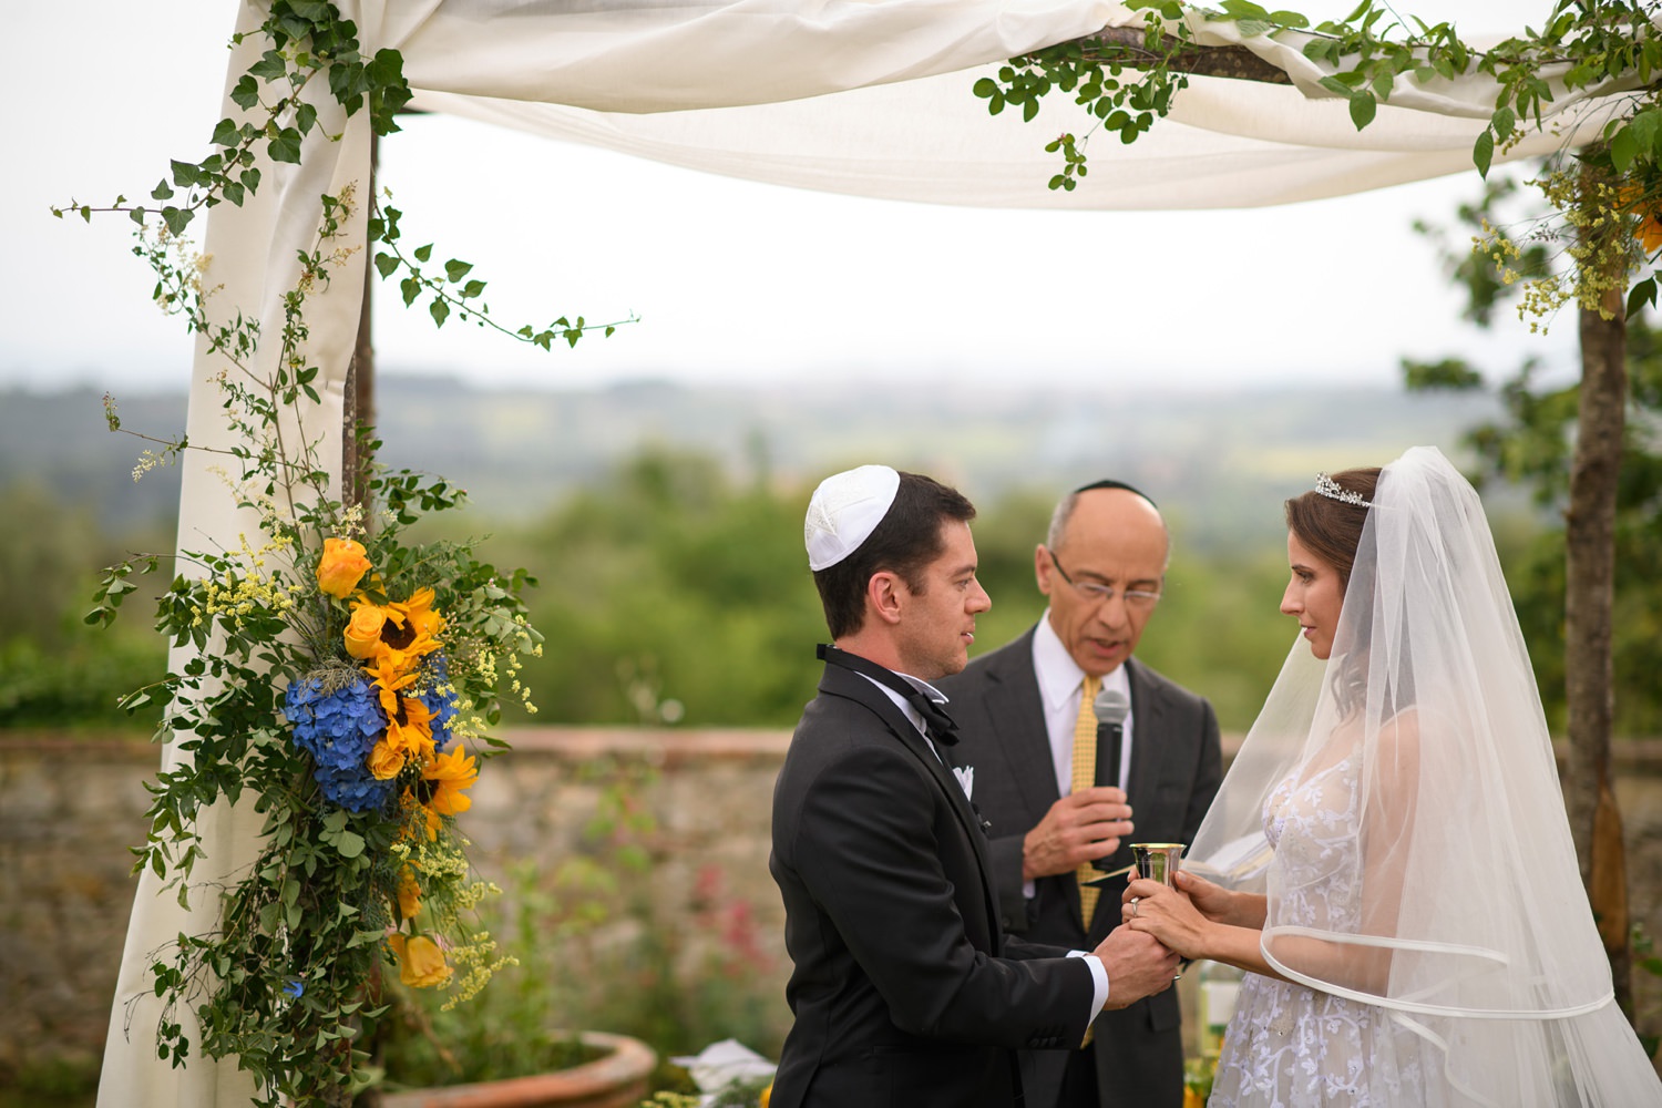
[[[834,646],[773,797],[770,870],[794,963],[774,1108],[1009,1108],[1017,1048],[1077,1047],[1095,1015],[1168,988],[1177,958],[1120,929],[1090,954],[1007,940],[974,771],[929,681],[967,661],[976,510],[863,465],[808,507]]]

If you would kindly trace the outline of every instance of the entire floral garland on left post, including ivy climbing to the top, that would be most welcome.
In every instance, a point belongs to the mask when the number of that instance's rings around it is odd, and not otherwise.
[[[575,346],[587,324],[560,316],[510,329],[480,299],[485,282],[459,259],[425,269],[432,244],[406,251],[397,209],[342,183],[319,196],[316,239],[297,251],[281,296],[281,326],[261,329],[244,304],[218,306],[213,257],[186,238],[198,214],[241,206],[279,163],[299,163],[321,126],[317,105],[369,115],[376,135],[397,130],[411,90],[396,50],[369,53],[334,3],[271,0],[254,35],[259,60],[229,91],[238,118],[213,131],[211,153],[170,163],[170,178],[131,203],[70,201],[55,214],[136,224],[133,254],[155,272],[153,297],[198,336],[219,367],[228,442],[150,439],[138,480],[186,450],[218,452],[218,470],[249,517],[236,548],[181,550],[158,601],[156,630],[173,645],[170,673],[138,689],[128,709],[161,711],[171,744],[151,789],[150,832],[136,869],[155,872],[193,912],[191,930],[150,954],[161,1002],[156,1052],[175,1066],[206,1055],[254,1076],[256,1103],[349,1103],[381,1075],[359,1043],[386,1010],[384,970],[412,988],[472,998],[512,962],[477,927],[480,899],[457,819],[489,754],[499,689],[535,711],[519,659],[540,653],[520,591],[524,570],[497,571],[472,542],[416,542],[425,517],[464,502],[442,478],[322,460],[332,442],[316,425],[327,409],[311,364],[306,304],[359,251],[382,281],[399,277],[406,306],[427,301],[435,326],[457,317],[520,342]],[[361,194],[362,193],[362,194]],[[349,236],[369,203],[367,228]],[[121,427],[106,399],[111,430]],[[354,457],[379,444],[361,427]],[[258,535],[251,538],[253,535]],[[105,571],[88,623],[108,625],[156,571],[143,555]],[[204,829],[219,854],[206,874]],[[258,819],[258,834],[248,816]],[[226,842],[229,839],[229,842]],[[248,856],[248,857],[244,857]],[[206,925],[198,920],[208,920]],[[130,1000],[130,1003],[133,1003]]]

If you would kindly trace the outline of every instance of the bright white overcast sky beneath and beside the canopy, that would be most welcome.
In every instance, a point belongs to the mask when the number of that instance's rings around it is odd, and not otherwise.
[[[1328,12],[1345,3],[1293,5]],[[1502,27],[1539,5],[1414,8]],[[1343,12],[1340,12],[1343,13]],[[189,337],[148,302],[121,219],[57,221],[50,204],[143,196],[170,156],[199,158],[218,120],[223,0],[27,3],[0,68],[10,169],[0,176],[0,387],[183,389]],[[843,370],[964,387],[1218,387],[1311,374],[1394,384],[1404,354],[1463,352],[1496,370],[1564,359],[1511,317],[1492,336],[1458,297],[1416,216],[1448,221],[1476,176],[1310,204],[1213,213],[982,211],[753,184],[454,118],[411,120],[382,143],[381,183],[416,226],[492,282],[504,322],[560,314],[642,322],[547,355],[377,296],[386,374],[482,384],[597,385],[633,377],[791,380]],[[873,264],[871,244],[907,257]],[[1316,257],[1293,243],[1316,243]],[[1001,277],[1017,257],[1089,266]],[[1049,272],[1045,272],[1049,269]],[[1100,274],[1092,281],[1084,272]],[[391,286],[386,292],[392,292]],[[1135,312],[1124,304],[1135,299]],[[553,311],[545,311],[552,307]]]

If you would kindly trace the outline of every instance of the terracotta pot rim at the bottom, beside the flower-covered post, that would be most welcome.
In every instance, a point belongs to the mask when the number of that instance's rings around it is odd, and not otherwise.
[[[570,1070],[530,1076],[384,1093],[382,1108],[637,1108],[647,1098],[658,1055],[628,1035],[582,1032],[585,1047],[603,1058]]]

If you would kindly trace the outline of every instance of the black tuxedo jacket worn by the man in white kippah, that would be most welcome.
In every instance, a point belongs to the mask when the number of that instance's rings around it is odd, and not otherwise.
[[[826,666],[803,713],[768,867],[796,1015],[773,1108],[1009,1108],[1012,1050],[1084,1038],[1089,967],[1004,937],[962,787],[859,674]]]

